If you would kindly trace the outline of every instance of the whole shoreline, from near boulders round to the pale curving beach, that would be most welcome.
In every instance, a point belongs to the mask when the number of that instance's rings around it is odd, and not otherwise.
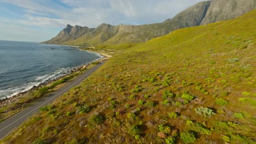
[[[76,46],[76,47],[79,47],[79,46]],[[82,50],[80,49],[81,51],[88,51],[88,50]],[[42,88],[42,87],[45,87],[45,86],[50,86],[51,84],[53,84],[54,82],[58,81],[58,80],[61,80],[63,79],[64,77],[67,77],[69,75],[72,75],[74,73],[77,73],[78,71],[80,70],[84,70],[88,67],[90,67],[90,65],[94,62],[97,62],[97,61],[104,61],[106,59],[108,59],[109,57],[112,57],[110,55],[107,55],[106,53],[101,53],[101,52],[95,52],[95,51],[88,51],[88,52],[92,52],[92,53],[97,53],[98,55],[101,56],[101,58],[99,59],[96,59],[95,61],[92,61],[90,63],[86,63],[86,64],[83,64],[83,65],[80,65],[78,67],[74,67],[74,69],[72,69],[70,71],[70,73],[66,74],[66,75],[63,75],[63,76],[60,76],[60,77],[57,77],[56,79],[53,79],[53,80],[47,80],[46,82],[42,82],[40,83],[38,86],[33,86],[31,89],[28,89],[28,91],[25,91],[25,92],[20,92],[16,95],[13,95],[11,97],[5,97],[5,98],[2,98],[0,99],[0,108],[1,107],[4,107],[4,106],[7,106],[9,104],[12,104],[12,103],[15,103],[17,101],[19,101],[20,99],[26,97],[28,94],[30,93],[33,93],[35,91],[37,91],[38,89]]]

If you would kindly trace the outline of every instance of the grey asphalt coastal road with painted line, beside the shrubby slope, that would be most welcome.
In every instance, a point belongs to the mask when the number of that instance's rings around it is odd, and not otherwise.
[[[88,76],[94,73],[95,70],[100,68],[103,63],[104,62],[101,62],[95,65],[94,67],[85,71],[85,73],[83,73],[82,75],[78,76],[73,81],[68,82],[65,86],[50,94],[48,97],[39,100],[37,103],[33,104],[30,107],[27,107],[25,110],[22,110],[16,115],[8,119],[5,119],[5,121],[0,123],[0,139],[3,139],[5,136],[8,136],[11,133],[11,131],[18,128],[19,125],[26,121],[28,117],[31,117],[34,113],[38,112],[40,107],[52,103],[56,98],[60,97],[61,95],[69,91],[69,89],[71,89],[74,86],[77,86],[80,82],[84,81],[84,79],[86,79]]]

